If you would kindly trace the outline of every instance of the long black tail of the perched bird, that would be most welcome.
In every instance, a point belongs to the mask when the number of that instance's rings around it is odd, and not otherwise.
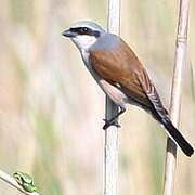
[[[161,123],[167,129],[171,139],[181,147],[186,156],[191,156],[194,153],[192,145],[185,140],[180,131],[173,126],[168,117],[164,118]]]

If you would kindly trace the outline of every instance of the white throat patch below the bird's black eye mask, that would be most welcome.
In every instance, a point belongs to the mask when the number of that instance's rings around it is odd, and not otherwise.
[[[81,35],[72,38],[73,42],[80,51],[87,51],[92,44],[96,42],[94,36]]]

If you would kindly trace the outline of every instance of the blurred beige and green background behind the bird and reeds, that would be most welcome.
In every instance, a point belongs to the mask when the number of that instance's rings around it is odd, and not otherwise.
[[[107,1],[0,0],[0,169],[35,177],[43,195],[103,193],[104,94],[62,31],[80,20],[106,27]],[[121,0],[121,37],[169,107],[179,1]],[[195,1],[180,127],[195,145]],[[159,195],[166,134],[138,107],[120,120],[119,194]],[[179,151],[174,194],[195,194],[195,157]],[[20,194],[0,181],[0,194]]]

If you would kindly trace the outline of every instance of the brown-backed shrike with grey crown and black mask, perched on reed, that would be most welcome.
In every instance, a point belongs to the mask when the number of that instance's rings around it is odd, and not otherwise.
[[[76,44],[88,70],[119,107],[116,116],[105,120],[103,129],[119,126],[116,119],[126,112],[127,104],[132,104],[150,113],[186,156],[193,155],[193,146],[171,122],[146,68],[119,36],[93,21],[79,21],[62,35]]]

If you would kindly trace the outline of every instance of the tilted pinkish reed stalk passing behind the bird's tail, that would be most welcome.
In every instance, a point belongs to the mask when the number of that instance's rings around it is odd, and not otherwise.
[[[170,117],[176,127],[179,126],[180,118],[182,72],[185,65],[186,57],[188,9],[190,0],[180,0],[178,34],[176,40],[174,70],[170,101]],[[170,138],[168,138],[165,165],[164,195],[173,194],[176,162],[177,145]]]

